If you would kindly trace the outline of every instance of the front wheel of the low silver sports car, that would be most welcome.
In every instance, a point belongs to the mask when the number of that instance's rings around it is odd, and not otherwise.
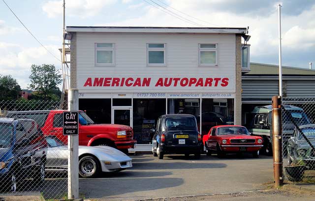
[[[79,174],[84,178],[93,178],[100,171],[98,160],[93,156],[85,156],[79,161]]]

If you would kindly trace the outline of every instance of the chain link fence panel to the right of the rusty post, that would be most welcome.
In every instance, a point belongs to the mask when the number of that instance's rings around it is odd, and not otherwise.
[[[282,101],[284,179],[315,180],[315,99]]]

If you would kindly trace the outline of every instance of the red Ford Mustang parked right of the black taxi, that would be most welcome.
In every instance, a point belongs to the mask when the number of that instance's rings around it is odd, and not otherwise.
[[[216,151],[219,158],[224,158],[227,153],[243,152],[250,152],[254,158],[258,158],[258,151],[263,146],[260,136],[252,136],[245,127],[237,125],[212,127],[202,141],[207,155],[211,156]]]

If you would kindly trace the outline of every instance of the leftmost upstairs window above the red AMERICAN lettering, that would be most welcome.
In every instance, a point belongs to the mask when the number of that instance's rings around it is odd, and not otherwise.
[[[95,43],[95,65],[114,65],[114,43]]]

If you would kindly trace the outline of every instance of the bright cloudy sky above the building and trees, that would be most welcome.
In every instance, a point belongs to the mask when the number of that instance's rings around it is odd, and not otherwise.
[[[4,1],[46,49],[61,59],[62,0]],[[249,27],[251,62],[278,65],[279,3],[283,6],[282,64],[308,68],[313,62],[315,68],[315,0],[65,0],[65,24]],[[32,64],[54,64],[61,69],[61,62],[49,52],[0,0],[0,74],[12,75],[25,89]]]

